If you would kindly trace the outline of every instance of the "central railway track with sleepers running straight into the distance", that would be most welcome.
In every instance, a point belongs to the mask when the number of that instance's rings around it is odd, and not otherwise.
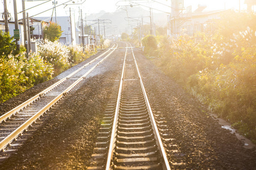
[[[116,80],[111,97],[88,169],[170,169],[128,44],[121,78]]]

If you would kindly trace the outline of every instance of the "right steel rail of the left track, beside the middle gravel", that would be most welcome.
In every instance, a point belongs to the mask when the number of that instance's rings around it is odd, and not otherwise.
[[[118,46],[118,45],[117,45]],[[117,46],[115,49],[117,49]],[[66,88],[65,91],[63,91],[60,95],[58,95],[57,97],[55,97],[50,103],[48,103],[47,105],[45,105],[44,108],[42,108],[40,111],[38,111],[37,113],[35,113],[31,118],[29,118],[26,122],[24,122],[22,125],[20,125],[17,129],[15,129],[14,131],[12,131],[11,134],[9,134],[5,139],[3,139],[0,142],[0,151],[3,150],[9,143],[12,142],[13,139],[15,139],[20,133],[22,133],[24,130],[26,130],[28,128],[28,126],[30,126],[37,118],[39,118],[41,116],[41,114],[43,114],[45,111],[47,111],[49,108],[52,107],[52,105],[54,105],[58,100],[60,100],[62,97],[64,97],[70,90],[72,90],[72,88],[74,88],[75,86],[77,86],[77,84],[79,82],[81,82],[83,79],[86,78],[86,76],[91,73],[91,71],[93,71],[95,69],[96,66],[98,66],[100,63],[102,63],[105,59],[107,59],[111,53],[113,53],[114,50],[112,50],[112,52],[110,52],[106,57],[104,57],[103,59],[101,59],[94,67],[92,67],[89,71],[87,71],[85,74],[83,74],[81,76],[81,78],[79,78],[78,80],[76,80],[71,86],[69,86],[68,88]]]

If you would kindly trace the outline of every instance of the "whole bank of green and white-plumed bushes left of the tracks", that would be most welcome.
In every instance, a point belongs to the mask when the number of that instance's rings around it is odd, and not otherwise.
[[[0,103],[20,94],[35,84],[60,74],[70,66],[88,58],[95,52],[81,45],[65,46],[60,42],[45,40],[38,53],[28,56],[22,52],[0,58]]]

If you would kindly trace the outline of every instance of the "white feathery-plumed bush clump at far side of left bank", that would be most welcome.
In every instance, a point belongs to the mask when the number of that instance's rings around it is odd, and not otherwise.
[[[52,42],[45,40],[43,44],[39,45],[38,52],[48,65],[53,66],[54,76],[68,69],[70,63],[70,50],[66,45],[62,45],[57,41]]]

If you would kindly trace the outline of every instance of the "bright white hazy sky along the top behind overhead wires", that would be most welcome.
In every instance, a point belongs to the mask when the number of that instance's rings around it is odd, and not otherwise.
[[[0,0],[2,3],[0,4],[0,12],[3,12],[3,0]],[[22,0],[16,0],[17,1],[17,7],[18,12],[22,11]],[[26,2],[26,8],[35,6],[37,4],[43,3],[45,1],[32,1],[28,0],[30,2]],[[61,3],[67,2],[68,0],[56,0],[58,5]],[[84,0],[74,0],[75,2],[83,2]],[[157,0],[158,2],[165,3],[166,5],[171,5],[171,0]],[[29,16],[36,15],[39,12],[43,12],[45,10],[48,10],[53,7],[52,1],[45,3],[44,5],[32,8],[31,10],[28,10]],[[118,2],[118,3],[117,3]],[[72,8],[73,11],[75,11],[75,15],[78,15],[78,7],[82,8],[83,13],[86,14],[94,14],[101,10],[107,11],[107,12],[114,12],[117,8],[117,5],[124,5],[125,1],[119,1],[119,0],[86,0],[83,5],[69,5],[64,8],[64,6],[57,7],[57,16],[66,16],[69,15],[69,7]],[[128,4],[128,3],[127,3]],[[222,10],[224,8],[239,8],[239,0],[184,0],[184,6],[192,6],[192,11],[196,10],[198,7],[198,4],[207,5],[207,10]],[[144,3],[146,6],[150,6],[148,3]],[[158,8],[163,11],[170,12],[170,7],[165,7],[163,5],[152,5],[155,8]],[[13,0],[7,0],[7,8],[9,12],[12,15],[12,18],[14,18],[13,13]],[[244,5],[244,0],[241,0],[241,9],[245,9],[246,5]],[[54,14],[54,13],[53,13]],[[44,12],[43,14],[40,14],[39,16],[51,16],[52,10],[49,10],[47,12]],[[22,14],[18,15],[18,18],[22,18]]]

